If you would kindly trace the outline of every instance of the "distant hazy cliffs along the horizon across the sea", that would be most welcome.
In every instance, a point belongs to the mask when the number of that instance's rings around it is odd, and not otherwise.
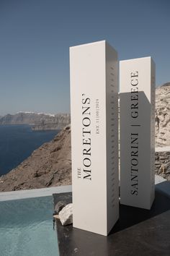
[[[32,130],[62,129],[70,124],[70,114],[43,114],[34,112],[19,112],[0,116],[0,125],[29,124]]]

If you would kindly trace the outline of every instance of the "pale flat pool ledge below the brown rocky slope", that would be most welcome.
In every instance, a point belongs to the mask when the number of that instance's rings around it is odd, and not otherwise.
[[[17,200],[32,197],[47,197],[54,193],[71,192],[72,186],[48,187],[44,189],[26,189],[12,192],[0,192],[0,201]]]

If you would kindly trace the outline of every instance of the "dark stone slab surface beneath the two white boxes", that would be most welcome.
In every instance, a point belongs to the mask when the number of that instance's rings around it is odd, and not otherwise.
[[[71,193],[53,195],[71,202]],[[120,205],[120,219],[109,236],[94,234],[56,221],[61,256],[170,256],[170,198],[156,190],[151,210]]]

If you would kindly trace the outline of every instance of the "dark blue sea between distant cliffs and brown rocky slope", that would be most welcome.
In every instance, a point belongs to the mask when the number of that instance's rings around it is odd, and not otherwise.
[[[59,130],[32,131],[29,125],[0,125],[0,176],[22,163]]]

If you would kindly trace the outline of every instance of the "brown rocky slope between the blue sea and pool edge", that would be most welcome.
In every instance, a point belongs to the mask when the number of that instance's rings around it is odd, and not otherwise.
[[[0,177],[0,191],[71,184],[71,129],[35,150],[17,168]]]

